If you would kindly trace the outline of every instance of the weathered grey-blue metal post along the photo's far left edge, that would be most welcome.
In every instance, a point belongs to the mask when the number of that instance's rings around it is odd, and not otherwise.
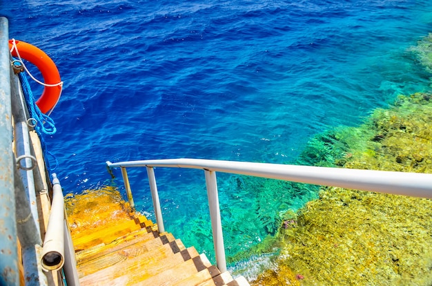
[[[19,284],[8,19],[0,17],[0,285]]]

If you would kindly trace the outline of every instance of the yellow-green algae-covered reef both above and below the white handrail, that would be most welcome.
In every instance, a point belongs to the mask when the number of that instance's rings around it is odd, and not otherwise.
[[[411,52],[432,71],[432,34]],[[302,163],[432,173],[431,142],[432,93],[400,95],[360,126],[317,135]],[[275,249],[251,285],[432,285],[432,200],[322,187],[254,251]]]

